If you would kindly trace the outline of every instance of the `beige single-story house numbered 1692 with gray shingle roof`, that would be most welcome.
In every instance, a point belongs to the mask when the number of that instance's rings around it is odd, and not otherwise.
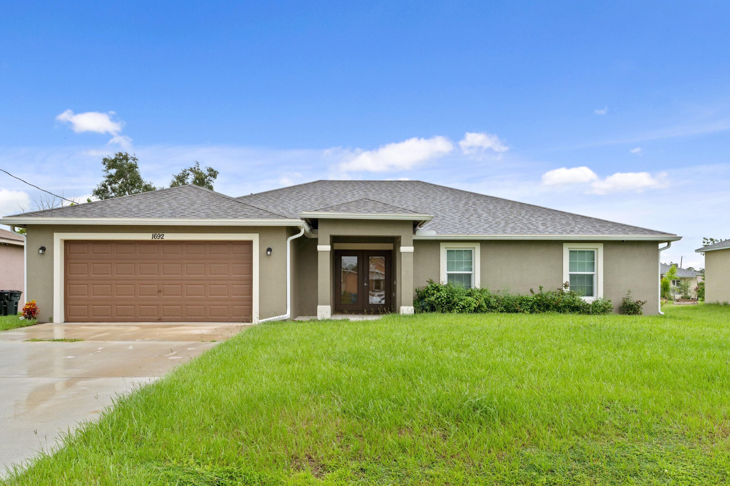
[[[429,279],[520,293],[570,282],[615,308],[631,290],[652,314],[658,244],[680,239],[420,181],[239,198],[185,185],[0,223],[27,229],[28,295],[57,323],[410,313]]]

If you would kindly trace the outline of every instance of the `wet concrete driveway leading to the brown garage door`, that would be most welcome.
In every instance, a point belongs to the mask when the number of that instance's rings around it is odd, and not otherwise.
[[[0,476],[93,420],[118,393],[210,350],[245,325],[39,324],[0,332]],[[82,342],[25,342],[26,339]]]

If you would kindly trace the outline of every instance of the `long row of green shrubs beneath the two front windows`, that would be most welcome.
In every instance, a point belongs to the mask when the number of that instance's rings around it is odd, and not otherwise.
[[[557,290],[542,290],[528,295],[508,293],[488,288],[465,288],[462,285],[439,284],[433,280],[415,290],[415,312],[445,312],[465,314],[472,312],[509,312],[534,314],[537,312],[562,312],[572,314],[609,314],[613,312],[610,300],[596,298],[585,301],[580,295],[568,290],[567,282]]]

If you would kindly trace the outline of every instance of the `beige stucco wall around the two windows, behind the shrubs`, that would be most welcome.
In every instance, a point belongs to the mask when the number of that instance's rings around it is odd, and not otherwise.
[[[446,241],[446,240],[445,240]],[[597,241],[600,242],[600,241]],[[415,240],[413,285],[440,278],[441,241]],[[515,293],[561,287],[563,241],[485,240],[480,243],[480,283],[492,290]],[[658,311],[658,244],[656,242],[602,242],[604,298],[618,311],[631,290],[634,299],[647,301],[646,314]]]

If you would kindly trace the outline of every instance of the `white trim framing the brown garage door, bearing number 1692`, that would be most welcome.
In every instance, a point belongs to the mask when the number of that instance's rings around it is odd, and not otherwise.
[[[66,240],[139,240],[139,241],[250,241],[253,244],[253,288],[251,320],[258,323],[258,233],[165,233],[164,240],[155,233],[54,233],[53,234],[53,322],[64,322],[64,242]]]

